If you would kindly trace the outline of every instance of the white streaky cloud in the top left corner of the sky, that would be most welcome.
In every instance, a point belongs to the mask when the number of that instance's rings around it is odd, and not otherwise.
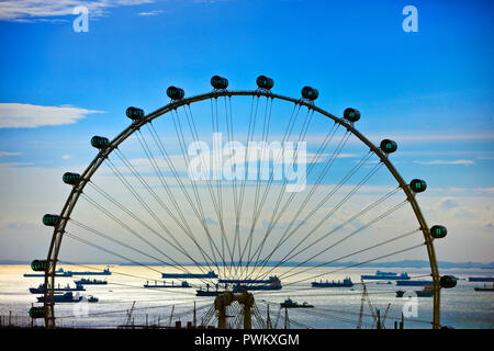
[[[34,1],[34,0],[8,0],[0,1],[0,20],[14,22],[60,22],[56,16],[74,16],[72,10],[78,5],[85,5],[90,16],[102,16],[105,9],[120,5],[138,5],[153,3],[154,0],[58,0],[58,1]]]

